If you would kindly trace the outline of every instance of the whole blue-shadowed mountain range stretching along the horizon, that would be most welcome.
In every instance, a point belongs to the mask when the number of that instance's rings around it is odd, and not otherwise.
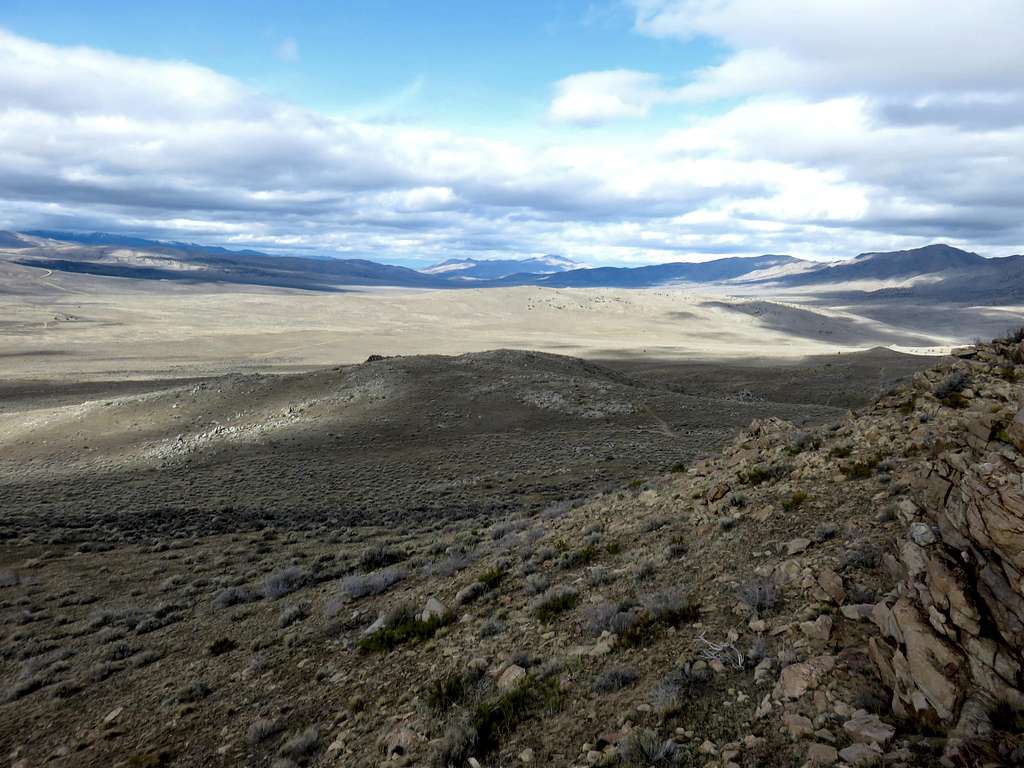
[[[728,286],[878,298],[974,303],[1024,302],[1024,255],[985,258],[948,245],[870,252],[836,262],[786,255],[727,257],[636,267],[588,267],[548,255],[523,259],[450,259],[421,270],[367,259],[275,256],[217,246],[102,232],[0,232],[0,258],[45,269],[138,280],[218,282],[315,291],[346,287],[656,288]]]

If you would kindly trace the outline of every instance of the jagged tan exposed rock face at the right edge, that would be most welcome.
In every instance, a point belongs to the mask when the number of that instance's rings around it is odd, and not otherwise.
[[[979,351],[970,365],[983,381]],[[950,760],[997,706],[1024,710],[1024,403],[990,381],[916,478],[902,581],[871,615],[895,713],[950,729]]]

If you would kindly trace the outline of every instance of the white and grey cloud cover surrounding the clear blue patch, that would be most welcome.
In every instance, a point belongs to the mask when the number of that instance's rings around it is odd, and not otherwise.
[[[593,126],[678,110],[654,140],[587,127],[494,140],[354,120],[186,61],[0,30],[0,225],[380,260],[834,257],[937,239],[1021,250],[1024,6],[921,15],[923,2],[889,2],[879,34],[839,0],[813,13],[783,0],[771,18],[754,0],[634,5],[640,34],[712,37],[729,52],[671,84],[579,73],[554,84],[550,114]],[[965,34],[991,45],[950,55]],[[686,112],[710,102],[725,105]]]

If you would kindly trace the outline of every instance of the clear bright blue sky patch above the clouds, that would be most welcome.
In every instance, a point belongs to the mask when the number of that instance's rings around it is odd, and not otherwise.
[[[57,45],[180,58],[328,113],[496,133],[544,120],[554,81],[632,69],[670,77],[720,57],[633,30],[618,2],[38,2],[0,23]],[[644,126],[649,128],[649,126]]]

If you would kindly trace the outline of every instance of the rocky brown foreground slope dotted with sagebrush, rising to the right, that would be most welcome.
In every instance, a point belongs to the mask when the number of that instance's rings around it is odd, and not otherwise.
[[[1016,765],[1024,346],[499,523],[8,542],[36,765]]]

